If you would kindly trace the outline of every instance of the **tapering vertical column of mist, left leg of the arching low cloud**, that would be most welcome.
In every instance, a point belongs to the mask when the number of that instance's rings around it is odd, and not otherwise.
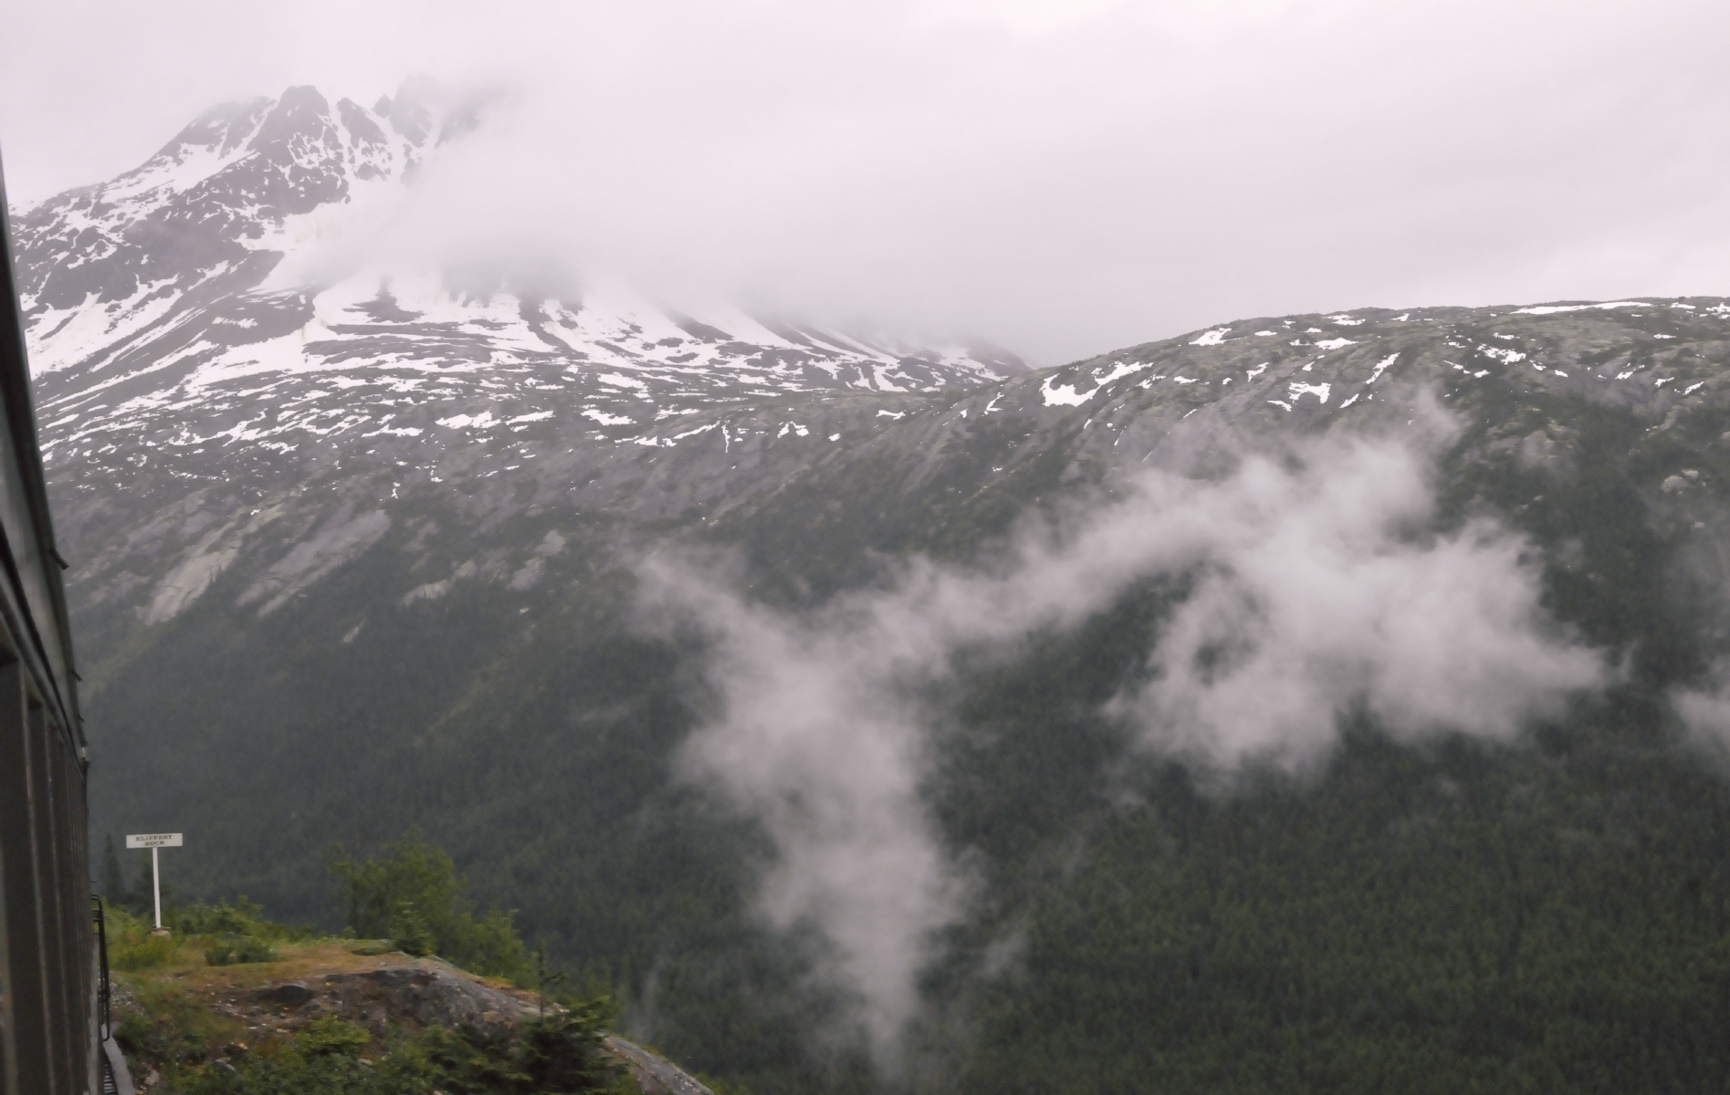
[[[931,932],[964,896],[919,797],[927,727],[907,692],[943,657],[941,626],[901,618],[894,597],[801,619],[666,560],[645,578],[714,640],[706,678],[720,711],[685,746],[682,775],[765,825],[778,858],[759,910],[777,927],[822,929],[823,972],[862,1000],[872,1041],[893,1047]]]

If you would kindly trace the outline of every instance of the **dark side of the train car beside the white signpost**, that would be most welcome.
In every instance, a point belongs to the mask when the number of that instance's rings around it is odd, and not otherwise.
[[[107,1067],[78,675],[0,183],[0,1092],[130,1090]],[[111,1043],[107,1043],[111,1045]]]

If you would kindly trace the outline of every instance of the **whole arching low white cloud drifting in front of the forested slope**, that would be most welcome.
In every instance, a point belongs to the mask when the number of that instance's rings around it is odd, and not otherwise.
[[[1408,739],[1507,739],[1604,680],[1545,618],[1526,541],[1490,521],[1438,535],[1432,517],[1420,450],[1327,441],[1216,481],[1150,472],[1119,502],[1026,528],[1000,566],[912,560],[887,590],[803,614],[657,557],[644,604],[706,637],[714,699],[680,773],[761,822],[777,853],[761,915],[822,932],[825,974],[893,1057],[934,934],[969,896],[922,799],[941,714],[920,697],[955,656],[1007,656],[1138,581],[1187,576],[1142,683],[1107,709],[1144,747],[1227,766],[1303,765],[1356,711]]]

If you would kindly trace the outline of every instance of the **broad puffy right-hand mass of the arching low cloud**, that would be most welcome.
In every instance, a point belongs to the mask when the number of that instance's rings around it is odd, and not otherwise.
[[[1150,744],[1294,765],[1355,708],[1396,735],[1509,739],[1600,682],[1602,661],[1545,624],[1521,538],[1490,521],[1401,535],[1429,517],[1410,450],[1336,451],[1301,474],[1253,462],[1168,514],[1209,538],[1152,680],[1114,704]]]

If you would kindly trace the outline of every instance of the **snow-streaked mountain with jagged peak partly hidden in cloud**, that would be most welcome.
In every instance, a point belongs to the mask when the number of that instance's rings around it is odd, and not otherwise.
[[[16,225],[50,462],[303,445],[571,419],[625,439],[657,419],[817,389],[971,387],[1024,372],[986,346],[908,346],[628,292],[548,298],[445,270],[304,259],[415,185],[477,125],[427,83],[363,107],[315,88],[215,107],[142,166]]]

